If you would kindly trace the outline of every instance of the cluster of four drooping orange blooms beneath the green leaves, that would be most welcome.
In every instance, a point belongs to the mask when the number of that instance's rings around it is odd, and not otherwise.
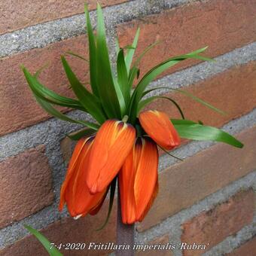
[[[180,144],[172,122],[160,111],[139,115],[144,136],[120,120],[106,120],[96,136],[80,139],[62,184],[59,209],[67,203],[75,218],[96,214],[111,181],[118,175],[123,223],[142,221],[157,196],[157,144]]]

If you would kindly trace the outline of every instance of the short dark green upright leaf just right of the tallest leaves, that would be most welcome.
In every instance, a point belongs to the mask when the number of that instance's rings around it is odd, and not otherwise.
[[[130,88],[128,87],[128,74],[126,71],[123,49],[120,49],[117,56],[117,81],[123,93],[124,101],[126,102],[126,105],[128,105],[130,100]]]

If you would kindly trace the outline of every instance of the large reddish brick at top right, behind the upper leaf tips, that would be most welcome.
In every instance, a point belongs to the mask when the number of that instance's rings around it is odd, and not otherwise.
[[[141,73],[169,56],[188,53],[206,45],[207,56],[218,56],[256,39],[256,2],[254,0],[194,2],[189,5],[163,11],[161,14],[143,17],[118,26],[120,44],[130,44],[139,26],[138,53],[160,40],[141,62]],[[195,62],[183,62],[186,67]]]

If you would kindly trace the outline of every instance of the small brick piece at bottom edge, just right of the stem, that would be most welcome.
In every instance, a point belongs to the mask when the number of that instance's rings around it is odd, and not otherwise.
[[[168,245],[168,243],[169,243],[169,235],[166,234],[166,235],[157,237],[156,239],[148,242],[148,245],[149,246],[150,245]],[[148,250],[145,250],[145,251],[142,251],[142,250],[136,251],[136,256],[154,256],[156,254],[159,255],[159,256],[171,256],[171,255],[173,255],[172,254],[172,249],[170,249],[170,250],[148,249]]]

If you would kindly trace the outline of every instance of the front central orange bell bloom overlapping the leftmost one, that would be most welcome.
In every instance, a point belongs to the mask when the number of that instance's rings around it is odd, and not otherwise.
[[[91,194],[99,193],[119,172],[133,148],[135,128],[120,120],[106,120],[93,142],[88,166],[87,186]]]

